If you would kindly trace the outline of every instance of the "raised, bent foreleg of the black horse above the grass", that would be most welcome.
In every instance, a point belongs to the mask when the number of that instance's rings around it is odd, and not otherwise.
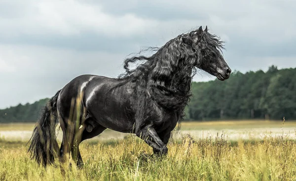
[[[166,155],[168,152],[167,146],[157,135],[154,128],[151,125],[144,127],[143,129],[136,132],[136,135],[143,139],[148,145],[153,148],[154,152]]]

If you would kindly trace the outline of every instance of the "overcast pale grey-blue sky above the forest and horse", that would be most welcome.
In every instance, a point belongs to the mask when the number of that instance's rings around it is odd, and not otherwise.
[[[130,53],[206,25],[232,70],[296,67],[295,12],[296,0],[0,0],[0,109],[80,74],[116,77]]]

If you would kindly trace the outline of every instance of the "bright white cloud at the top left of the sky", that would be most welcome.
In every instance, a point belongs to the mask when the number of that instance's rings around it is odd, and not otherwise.
[[[75,0],[40,0],[23,5],[26,10],[20,16],[0,17],[0,31],[6,36],[75,36],[83,32],[111,37],[133,36],[144,34],[148,27],[155,27],[158,23],[130,13],[123,16],[107,14],[99,5]]]

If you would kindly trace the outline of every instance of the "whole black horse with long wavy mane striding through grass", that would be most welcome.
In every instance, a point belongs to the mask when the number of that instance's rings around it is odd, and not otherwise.
[[[184,116],[197,69],[229,78],[230,68],[222,56],[222,41],[207,28],[182,34],[158,48],[150,57],[124,62],[126,72],[118,78],[80,75],[59,90],[44,107],[32,135],[31,158],[44,167],[58,153],[61,169],[70,152],[77,166],[83,164],[79,143],[105,129],[135,133],[153,148],[167,154],[171,131]],[[142,62],[135,69],[130,63]],[[60,122],[63,141],[59,149],[55,128]]]

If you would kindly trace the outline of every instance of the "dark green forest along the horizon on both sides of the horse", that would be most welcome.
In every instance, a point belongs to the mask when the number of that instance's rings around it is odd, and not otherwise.
[[[296,68],[234,71],[225,81],[192,83],[187,120],[296,119]],[[35,122],[48,99],[0,110],[0,122]]]

